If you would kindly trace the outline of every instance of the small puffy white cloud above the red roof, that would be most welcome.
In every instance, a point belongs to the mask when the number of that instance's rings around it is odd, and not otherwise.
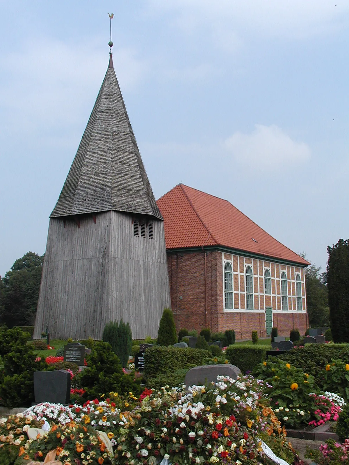
[[[256,124],[250,134],[236,132],[223,142],[223,147],[242,165],[266,171],[300,163],[310,157],[307,144],[292,140],[275,125]]]

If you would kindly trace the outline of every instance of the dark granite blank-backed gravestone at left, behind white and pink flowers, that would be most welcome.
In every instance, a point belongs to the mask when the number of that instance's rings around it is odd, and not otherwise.
[[[34,372],[35,403],[69,404],[70,373],[66,370]]]

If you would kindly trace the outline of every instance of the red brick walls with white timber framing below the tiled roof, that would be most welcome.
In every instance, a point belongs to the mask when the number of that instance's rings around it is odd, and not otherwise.
[[[177,331],[181,328],[200,331],[208,326],[212,332],[234,329],[237,339],[250,339],[257,331],[265,337],[265,308],[273,308],[273,326],[279,335],[289,336],[292,328],[304,334],[307,326],[304,269],[264,259],[252,259],[215,251],[167,252],[171,306]],[[233,309],[225,309],[223,269],[226,262],[233,269]],[[253,270],[254,309],[246,310],[245,268]],[[270,269],[271,295],[264,294],[264,270]],[[281,306],[280,275],[287,274],[288,311]],[[302,311],[296,310],[295,277],[302,283]],[[273,295],[274,294],[274,295]]]

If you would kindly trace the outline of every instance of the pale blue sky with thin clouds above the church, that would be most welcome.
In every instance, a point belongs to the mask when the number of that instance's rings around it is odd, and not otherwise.
[[[349,237],[348,0],[0,0],[0,275],[45,252],[107,13],[155,198],[182,182],[227,199],[325,271]]]

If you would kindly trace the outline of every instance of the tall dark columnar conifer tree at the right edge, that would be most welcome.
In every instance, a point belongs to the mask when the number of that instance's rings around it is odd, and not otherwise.
[[[349,342],[349,239],[327,247],[329,319],[334,342]]]

